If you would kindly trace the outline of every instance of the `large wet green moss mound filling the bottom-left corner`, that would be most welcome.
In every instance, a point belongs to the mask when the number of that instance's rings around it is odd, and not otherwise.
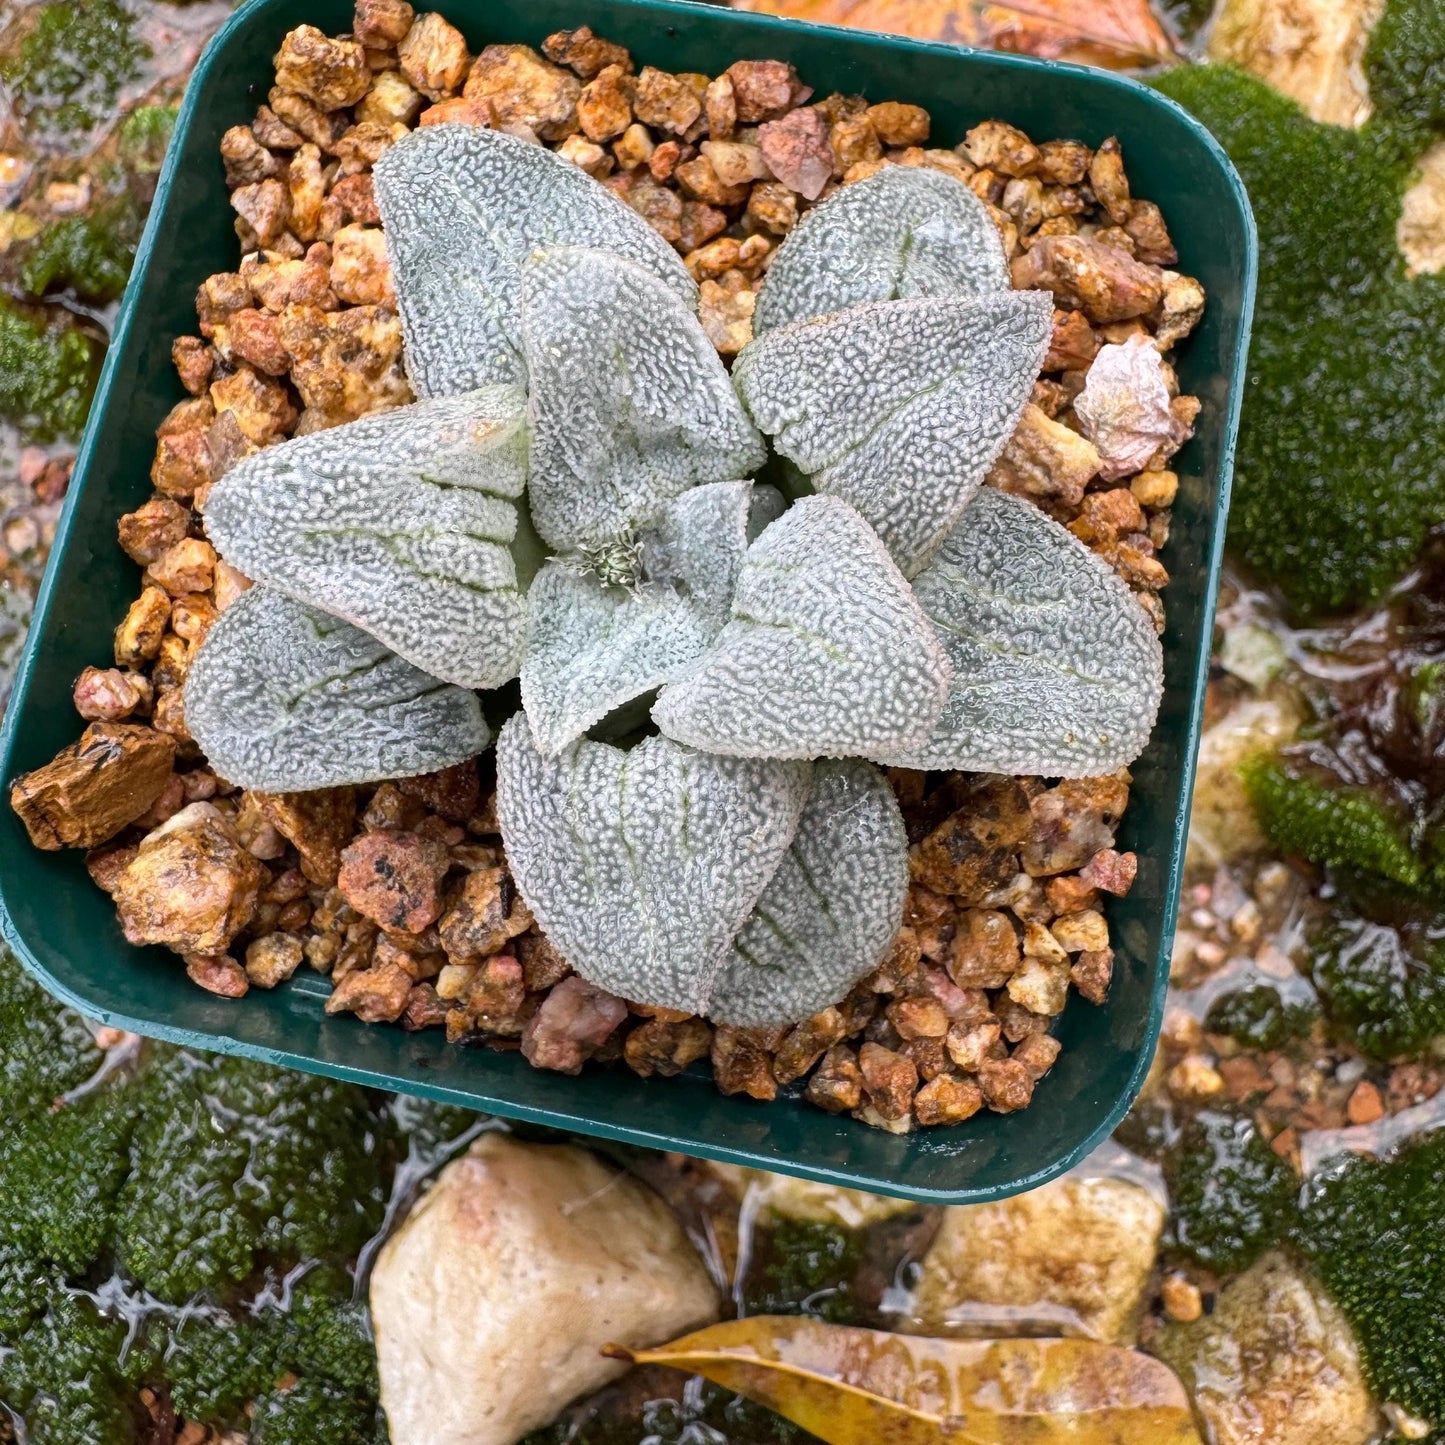
[[[95,1084],[87,1026],[7,954],[0,1039],[0,1405],[32,1445],[124,1445],[142,1386],[217,1426],[256,1402],[256,1445],[384,1441],[350,1266],[402,1130],[444,1155],[471,1118],[159,1045]],[[289,1308],[253,1308],[283,1277]],[[136,1331],[100,1298],[144,1302]]]

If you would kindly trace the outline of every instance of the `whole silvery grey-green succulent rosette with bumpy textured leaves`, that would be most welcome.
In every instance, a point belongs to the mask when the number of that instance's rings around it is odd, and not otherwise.
[[[754,1026],[837,1003],[897,932],[876,764],[1137,756],[1147,616],[983,486],[1052,305],[1009,289],[967,186],[890,168],[821,204],[730,377],[676,254],[561,156],[436,126],[376,182],[422,399],[212,488],[212,540],[260,582],[186,683],[227,777],[448,766],[490,741],[467,689],[520,675],[497,816],[538,922],[600,988]],[[749,480],[760,434],[790,506]]]

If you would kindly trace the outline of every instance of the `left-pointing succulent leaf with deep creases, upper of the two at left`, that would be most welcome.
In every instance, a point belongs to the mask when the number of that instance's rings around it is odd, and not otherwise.
[[[205,525],[259,582],[344,617],[465,688],[517,675],[509,551],[526,483],[522,393],[481,387],[269,447],[211,490]]]

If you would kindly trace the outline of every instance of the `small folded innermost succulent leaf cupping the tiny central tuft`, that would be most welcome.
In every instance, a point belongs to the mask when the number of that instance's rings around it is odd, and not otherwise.
[[[568,561],[527,594],[522,705],[548,757],[594,722],[678,676],[727,621],[747,551],[753,484],[685,491],[639,542],[643,575],[608,587]]]

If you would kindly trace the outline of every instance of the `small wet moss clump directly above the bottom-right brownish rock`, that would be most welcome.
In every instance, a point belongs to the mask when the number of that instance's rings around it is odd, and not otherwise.
[[[1209,1110],[1191,1117],[1166,1178],[1175,1244],[1205,1269],[1246,1269],[1293,1212],[1295,1176],[1247,1117]]]

